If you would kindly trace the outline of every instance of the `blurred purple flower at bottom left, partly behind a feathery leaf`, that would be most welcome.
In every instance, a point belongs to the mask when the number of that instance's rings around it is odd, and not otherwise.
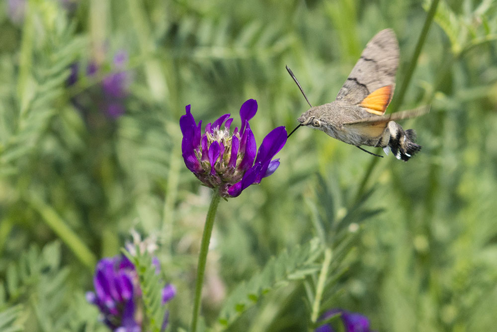
[[[137,314],[141,289],[133,263],[124,255],[101,259],[93,277],[95,292],[87,292],[86,300],[100,310],[103,322],[112,331],[140,332],[141,321]],[[176,294],[172,285],[162,290],[163,304]],[[166,327],[167,313],[164,318]]]

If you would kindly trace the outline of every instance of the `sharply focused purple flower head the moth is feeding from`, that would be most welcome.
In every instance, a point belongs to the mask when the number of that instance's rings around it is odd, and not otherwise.
[[[274,173],[279,159],[272,159],[286,143],[284,126],[271,130],[257,151],[248,121],[257,112],[254,99],[240,109],[242,124],[231,131],[233,118],[224,114],[208,123],[202,133],[202,121],[195,122],[186,106],[179,119],[183,133],[181,150],[186,167],[207,187],[218,188],[222,197],[237,197],[248,186]]]

